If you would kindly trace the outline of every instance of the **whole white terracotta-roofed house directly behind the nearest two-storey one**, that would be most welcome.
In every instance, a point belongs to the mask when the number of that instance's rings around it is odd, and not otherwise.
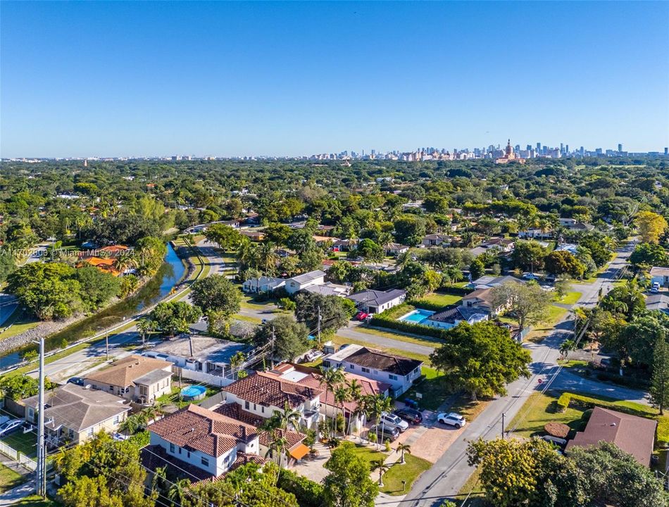
[[[258,372],[223,387],[226,403],[237,403],[246,412],[269,418],[285,404],[301,413],[299,424],[313,428],[318,423],[320,395],[324,390],[308,387],[277,375]]]

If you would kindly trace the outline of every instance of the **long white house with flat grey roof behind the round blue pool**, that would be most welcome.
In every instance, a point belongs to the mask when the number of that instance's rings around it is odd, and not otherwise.
[[[165,340],[145,351],[144,356],[173,363],[173,371],[183,378],[223,386],[234,381],[231,358],[250,349],[239,342],[193,334]]]

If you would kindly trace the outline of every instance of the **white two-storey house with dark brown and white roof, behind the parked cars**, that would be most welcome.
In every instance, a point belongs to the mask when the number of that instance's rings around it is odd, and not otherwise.
[[[411,387],[420,377],[422,365],[423,361],[354,344],[323,358],[324,368],[343,368],[345,372],[390,384],[394,396]]]

